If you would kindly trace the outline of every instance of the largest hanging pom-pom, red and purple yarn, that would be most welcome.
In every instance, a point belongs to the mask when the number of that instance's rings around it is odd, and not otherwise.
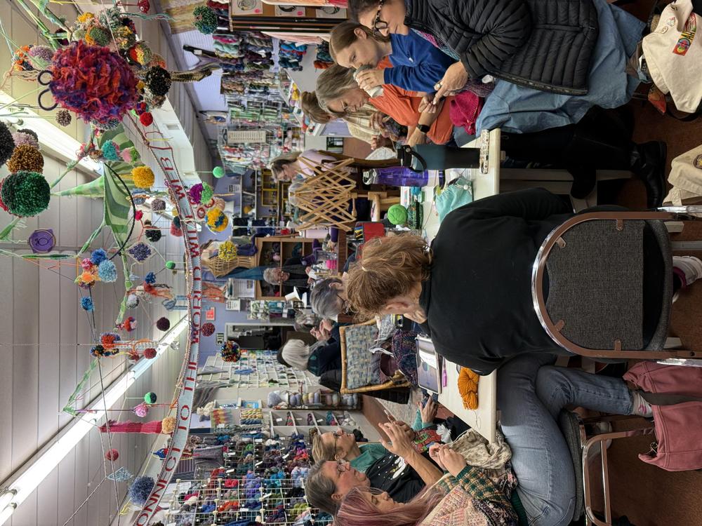
[[[53,55],[49,83],[54,100],[84,121],[119,120],[137,102],[137,79],[124,58],[108,48],[72,42]]]

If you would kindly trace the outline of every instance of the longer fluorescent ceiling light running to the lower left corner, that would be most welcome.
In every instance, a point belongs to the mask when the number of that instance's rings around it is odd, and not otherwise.
[[[159,340],[157,356],[152,360],[139,360],[125,372],[124,375],[121,375],[119,379],[112,382],[105,390],[103,396],[100,396],[95,402],[86,407],[86,409],[91,410],[91,412],[82,414],[79,418],[75,418],[71,424],[68,424],[62,429],[58,438],[51,443],[51,445],[37,452],[27,464],[22,466],[16,473],[13,473],[8,483],[6,483],[9,491],[1,495],[0,498],[4,501],[7,494],[12,495],[13,491],[17,493],[11,497],[11,504],[4,508],[3,511],[0,511],[0,526],[12,515],[14,511],[13,504],[19,506],[37,489],[37,487],[39,487],[41,481],[58,466],[59,462],[62,461],[91,430],[95,429],[95,424],[107,416],[105,410],[109,410],[110,407],[117,404],[119,399],[124,396],[124,393],[126,393],[127,389],[129,389],[135,380],[150,369],[156,360],[158,360],[159,356],[168,349],[171,343],[173,343],[188,326],[189,321],[187,316],[180,318],[180,321]],[[8,508],[11,509],[8,510]]]

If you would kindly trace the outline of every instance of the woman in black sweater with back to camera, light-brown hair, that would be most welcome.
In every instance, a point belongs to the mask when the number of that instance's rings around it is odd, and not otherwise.
[[[538,321],[531,271],[545,237],[572,216],[544,189],[479,199],[449,213],[431,247],[411,235],[366,243],[345,281],[347,297],[360,314],[420,323],[440,355],[479,375],[517,354],[565,353]],[[702,276],[685,266],[685,284]]]

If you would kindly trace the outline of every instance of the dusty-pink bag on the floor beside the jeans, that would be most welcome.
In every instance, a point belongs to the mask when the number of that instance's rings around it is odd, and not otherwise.
[[[702,367],[640,362],[624,379],[644,391],[651,404],[673,404],[653,405],[658,447],[639,458],[666,471],[702,468]]]

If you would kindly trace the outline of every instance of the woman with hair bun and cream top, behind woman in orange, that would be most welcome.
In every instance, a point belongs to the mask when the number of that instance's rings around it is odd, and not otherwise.
[[[314,91],[303,91],[300,96],[300,107],[310,121],[326,124],[339,119],[338,116],[325,112],[319,106],[317,94]],[[367,142],[371,149],[392,147],[392,142],[404,141],[407,138],[406,126],[401,126],[392,117],[378,112],[370,104],[365,104],[354,114],[341,117],[349,129],[349,133],[357,139]]]

